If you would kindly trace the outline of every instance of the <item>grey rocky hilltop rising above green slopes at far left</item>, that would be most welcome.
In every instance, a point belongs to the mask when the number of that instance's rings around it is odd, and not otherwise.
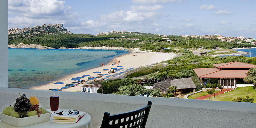
[[[72,34],[66,28],[63,27],[63,24],[43,24],[42,26],[36,25],[31,28],[11,28],[8,29],[8,35],[12,34],[21,34],[21,35],[58,35],[58,34]]]

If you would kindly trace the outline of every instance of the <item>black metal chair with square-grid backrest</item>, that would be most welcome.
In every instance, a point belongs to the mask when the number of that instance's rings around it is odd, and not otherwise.
[[[100,128],[145,128],[152,102],[148,105],[126,113],[110,115],[104,113]]]

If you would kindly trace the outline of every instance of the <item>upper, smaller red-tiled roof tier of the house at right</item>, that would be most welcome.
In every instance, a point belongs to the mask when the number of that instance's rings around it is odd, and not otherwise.
[[[213,66],[218,68],[256,68],[256,65],[236,61],[229,63],[213,64]]]

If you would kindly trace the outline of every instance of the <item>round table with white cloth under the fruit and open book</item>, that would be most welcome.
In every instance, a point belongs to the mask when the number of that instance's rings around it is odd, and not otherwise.
[[[58,111],[64,111],[69,109],[59,109]],[[51,111],[50,109],[46,109],[46,111]],[[52,120],[52,116],[50,121]],[[92,128],[92,120],[91,116],[86,113],[83,118],[81,118],[77,123],[50,123],[50,121],[34,124],[22,128]],[[0,128],[19,128],[12,126],[10,124],[6,124],[0,120]]]

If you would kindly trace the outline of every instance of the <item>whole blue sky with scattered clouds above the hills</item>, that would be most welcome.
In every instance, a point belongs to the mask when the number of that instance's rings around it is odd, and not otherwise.
[[[256,38],[256,0],[8,0],[8,28]]]

